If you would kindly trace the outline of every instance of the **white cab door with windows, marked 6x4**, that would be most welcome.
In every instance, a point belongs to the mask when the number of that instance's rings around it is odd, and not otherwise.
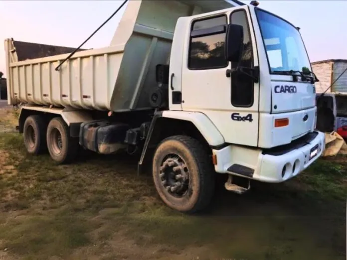
[[[244,51],[239,65],[258,66],[247,7],[194,16],[183,51],[182,110],[204,113],[225,142],[257,146],[259,84],[244,75],[228,73],[237,65],[224,57],[229,22],[243,26]]]

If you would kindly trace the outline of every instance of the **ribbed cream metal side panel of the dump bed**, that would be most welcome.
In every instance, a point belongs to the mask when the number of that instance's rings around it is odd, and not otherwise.
[[[124,45],[84,50],[74,54],[58,71],[68,54],[18,61],[9,54],[7,93],[11,105],[19,103],[82,109],[110,109],[110,97],[123,57]],[[17,52],[17,50],[16,50]]]

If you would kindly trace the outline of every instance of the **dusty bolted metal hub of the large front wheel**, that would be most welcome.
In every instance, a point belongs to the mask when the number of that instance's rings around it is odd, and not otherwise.
[[[177,155],[169,156],[160,167],[160,178],[165,189],[174,196],[184,196],[189,187],[189,171]]]

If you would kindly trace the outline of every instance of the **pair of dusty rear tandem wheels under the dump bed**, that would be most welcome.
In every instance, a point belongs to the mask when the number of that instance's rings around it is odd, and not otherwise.
[[[26,118],[23,128],[26,150],[38,155],[48,150],[58,164],[69,163],[76,158],[78,139],[70,136],[69,128],[62,118],[48,120],[40,115]]]

